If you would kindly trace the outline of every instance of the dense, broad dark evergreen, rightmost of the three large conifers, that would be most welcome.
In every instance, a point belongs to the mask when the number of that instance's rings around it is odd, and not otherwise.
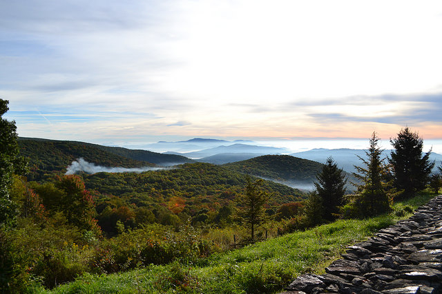
[[[397,138],[390,139],[394,150],[390,154],[394,187],[402,198],[414,196],[416,191],[425,189],[430,180],[434,162],[430,162],[431,150],[422,154],[423,139],[408,127],[401,129]]]

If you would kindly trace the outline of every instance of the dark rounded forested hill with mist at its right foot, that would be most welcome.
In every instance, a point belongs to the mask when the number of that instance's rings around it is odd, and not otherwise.
[[[314,182],[323,164],[289,155],[265,155],[224,165],[232,171],[291,182]]]

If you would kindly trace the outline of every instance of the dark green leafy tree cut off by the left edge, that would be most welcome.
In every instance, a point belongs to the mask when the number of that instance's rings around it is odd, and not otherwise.
[[[19,156],[15,121],[1,116],[8,112],[9,101],[0,99],[0,227],[12,224],[17,216],[17,204],[10,199],[13,174],[23,174],[26,164]]]

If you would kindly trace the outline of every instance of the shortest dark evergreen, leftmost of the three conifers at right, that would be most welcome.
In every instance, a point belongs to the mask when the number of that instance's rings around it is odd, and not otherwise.
[[[338,169],[338,165],[332,157],[327,158],[323,170],[316,176],[316,192],[322,199],[323,218],[325,220],[335,220],[339,212],[345,194],[345,184],[347,179],[343,169]]]

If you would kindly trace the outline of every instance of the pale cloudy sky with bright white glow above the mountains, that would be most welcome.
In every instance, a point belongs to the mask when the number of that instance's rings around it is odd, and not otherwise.
[[[441,139],[442,1],[0,0],[19,136]]]

